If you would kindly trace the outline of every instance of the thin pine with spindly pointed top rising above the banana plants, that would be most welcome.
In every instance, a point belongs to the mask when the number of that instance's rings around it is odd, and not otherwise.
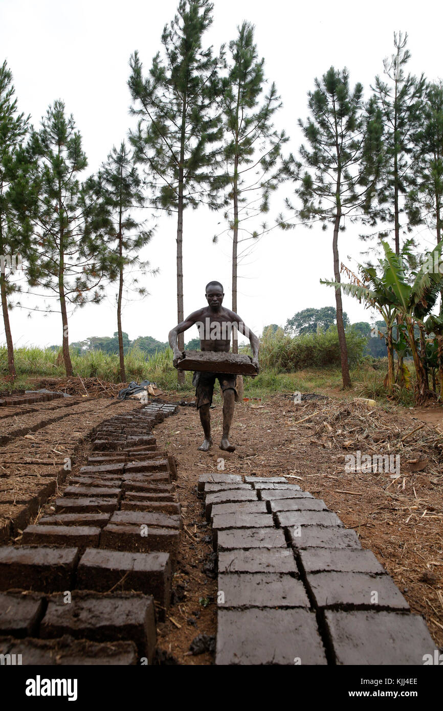
[[[378,218],[393,223],[395,254],[400,254],[401,215],[405,210],[404,197],[414,184],[412,135],[420,123],[420,108],[425,89],[423,75],[405,75],[410,60],[406,48],[407,33],[394,33],[395,53],[383,61],[389,82],[375,77],[375,100],[382,113],[384,170],[377,186]],[[382,232],[380,237],[386,237]]]

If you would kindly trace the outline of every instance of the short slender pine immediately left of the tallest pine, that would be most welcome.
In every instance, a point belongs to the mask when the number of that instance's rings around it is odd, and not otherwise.
[[[139,277],[124,280],[124,272],[131,273],[135,267],[146,274],[149,262],[139,258],[139,252],[151,240],[153,229],[146,229],[146,220],[137,220],[129,210],[143,208],[146,198],[142,191],[142,180],[134,165],[132,154],[127,145],[122,142],[117,150],[113,146],[107,156],[107,161],[102,165],[97,178],[91,178],[90,186],[97,195],[97,201],[104,201],[107,220],[104,230],[104,239],[110,250],[107,261],[110,267],[108,276],[118,278],[119,289],[117,293],[117,336],[119,343],[120,380],[126,382],[124,369],[124,342],[122,331],[122,299],[124,285],[127,289],[134,289],[137,296],[148,295],[146,287],[139,286]],[[96,215],[94,215],[97,218]],[[102,215],[99,214],[99,220]],[[109,221],[108,221],[109,220]],[[93,225],[91,225],[93,226]],[[151,274],[156,270],[151,270]]]

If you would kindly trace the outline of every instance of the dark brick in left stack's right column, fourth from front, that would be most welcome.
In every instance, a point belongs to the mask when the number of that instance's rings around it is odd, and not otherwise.
[[[142,530],[139,525],[114,525],[108,523],[100,538],[100,547],[110,550],[129,550],[150,553],[160,550],[176,557],[180,533],[174,528],[148,526]]]

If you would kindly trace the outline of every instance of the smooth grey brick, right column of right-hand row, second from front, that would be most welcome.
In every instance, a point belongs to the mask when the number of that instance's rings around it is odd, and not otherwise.
[[[319,607],[409,610],[405,598],[388,575],[326,572],[308,573],[306,579]]]

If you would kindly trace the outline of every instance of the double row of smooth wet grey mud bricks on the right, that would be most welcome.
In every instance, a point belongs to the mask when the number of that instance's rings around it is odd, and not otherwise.
[[[284,477],[204,474],[218,556],[215,663],[420,665],[422,617],[324,501]]]

